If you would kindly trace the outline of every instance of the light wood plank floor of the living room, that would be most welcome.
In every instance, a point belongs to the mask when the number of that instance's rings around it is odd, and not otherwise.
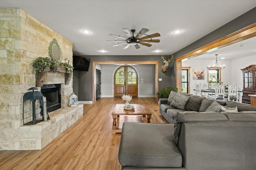
[[[121,134],[111,134],[115,104],[124,101],[101,98],[95,104],[84,104],[84,116],[42,150],[0,151],[0,170],[120,170]],[[151,123],[168,123],[160,115],[155,98],[138,98],[130,104],[148,106]],[[141,121],[142,116],[132,116],[130,120]]]

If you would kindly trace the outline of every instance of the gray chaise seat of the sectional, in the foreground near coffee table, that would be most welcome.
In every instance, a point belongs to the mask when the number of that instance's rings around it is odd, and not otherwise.
[[[122,166],[181,167],[173,124],[124,122],[118,159]]]

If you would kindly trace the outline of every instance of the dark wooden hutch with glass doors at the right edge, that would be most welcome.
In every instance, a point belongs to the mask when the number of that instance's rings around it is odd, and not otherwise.
[[[256,94],[256,65],[250,65],[241,70],[244,78],[242,102],[250,104],[250,96],[248,94]]]

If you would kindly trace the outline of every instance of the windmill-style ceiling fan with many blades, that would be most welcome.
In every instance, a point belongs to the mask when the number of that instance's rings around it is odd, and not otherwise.
[[[151,35],[146,35],[145,33],[149,30],[146,28],[142,28],[140,32],[135,33],[135,29],[132,29],[131,32],[127,28],[122,29],[125,34],[122,35],[112,35],[116,37],[115,40],[107,40],[107,41],[114,41],[116,45],[113,45],[113,47],[121,45],[124,47],[124,49],[127,49],[128,47],[135,47],[136,49],[139,49],[140,46],[145,45],[147,47],[150,47],[152,44],[150,43],[159,43],[159,39],[152,39],[154,37],[159,37],[159,33],[154,33]],[[136,34],[136,36],[134,36]],[[145,37],[141,37],[142,35],[146,35]],[[138,45],[140,44],[140,45]]]

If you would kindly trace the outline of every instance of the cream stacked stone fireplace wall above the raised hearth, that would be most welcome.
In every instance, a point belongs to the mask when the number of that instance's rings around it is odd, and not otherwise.
[[[36,86],[32,61],[49,57],[48,47],[54,38],[62,50],[62,62],[72,63],[72,42],[20,8],[0,9],[0,150],[26,150],[28,143],[38,143],[20,137],[23,96]],[[64,73],[49,73],[46,84],[59,83],[65,107],[73,92],[72,79],[65,85]]]

